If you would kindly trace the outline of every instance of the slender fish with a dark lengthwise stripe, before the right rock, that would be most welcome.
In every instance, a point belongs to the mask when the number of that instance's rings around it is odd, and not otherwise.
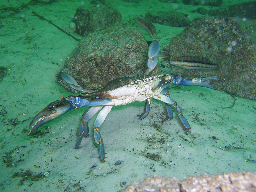
[[[177,57],[171,59],[170,64],[187,70],[197,69],[200,71],[219,70],[221,67],[221,64],[218,65],[205,57],[198,56]]]

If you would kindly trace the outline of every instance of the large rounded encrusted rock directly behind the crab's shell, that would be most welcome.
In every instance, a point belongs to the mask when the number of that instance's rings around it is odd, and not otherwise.
[[[147,59],[148,44],[141,31],[116,26],[84,37],[62,71],[75,77],[83,87],[101,87],[119,76],[143,74]],[[154,72],[159,72],[158,67],[151,74]],[[74,92],[60,77],[57,82]]]

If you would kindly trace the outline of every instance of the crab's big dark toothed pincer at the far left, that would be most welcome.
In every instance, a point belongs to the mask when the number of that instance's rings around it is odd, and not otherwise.
[[[36,121],[36,123],[32,126],[28,136],[31,135],[37,128],[41,127],[42,125],[56,119],[63,114],[67,113],[69,110],[75,108],[75,106],[69,100],[66,100],[65,97],[62,97],[61,100],[53,101],[46,108],[40,111],[30,122],[30,126]]]

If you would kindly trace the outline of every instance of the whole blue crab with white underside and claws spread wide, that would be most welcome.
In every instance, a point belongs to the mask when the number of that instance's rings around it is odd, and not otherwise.
[[[38,120],[32,126],[28,135],[32,134],[40,126],[62,116],[71,109],[89,106],[89,108],[82,116],[82,120],[78,129],[79,137],[75,148],[79,147],[83,137],[88,136],[88,121],[100,110],[93,126],[93,134],[95,143],[99,147],[100,161],[104,162],[105,152],[103,139],[100,135],[99,128],[103,124],[111,108],[113,106],[126,105],[134,101],[145,101],[145,111],[139,118],[141,120],[148,115],[152,98],[161,100],[166,104],[166,121],[173,118],[172,107],[175,108],[182,125],[187,130],[187,134],[190,134],[190,125],[188,120],[182,115],[179,105],[177,105],[177,103],[170,98],[169,92],[166,90],[166,88],[175,84],[202,86],[214,89],[205,81],[218,79],[215,77],[203,76],[170,76],[168,74],[158,76],[146,75],[156,66],[158,62],[157,55],[159,53],[159,49],[160,46],[158,41],[154,41],[150,44],[148,52],[148,70],[145,72],[145,74],[118,77],[108,82],[108,84],[106,84],[100,90],[91,87],[83,88],[71,75],[61,72],[60,75],[62,78],[72,88],[83,92],[81,93],[83,95],[62,97],[61,100],[50,103],[32,119],[31,123],[29,124],[29,128],[37,119]]]

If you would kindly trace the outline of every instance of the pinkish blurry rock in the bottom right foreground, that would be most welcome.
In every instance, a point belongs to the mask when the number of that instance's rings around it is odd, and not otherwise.
[[[222,191],[248,191],[256,190],[256,172],[231,172],[229,174],[189,176],[180,180],[176,177],[150,176],[132,182],[119,192],[222,192]]]

